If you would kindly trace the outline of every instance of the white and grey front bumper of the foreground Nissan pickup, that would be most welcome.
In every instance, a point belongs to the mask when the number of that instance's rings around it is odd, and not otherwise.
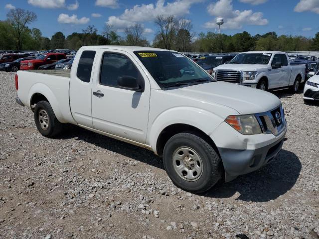
[[[286,132],[286,119],[284,128],[276,136],[272,133],[243,135],[223,122],[211,137],[215,139],[223,162],[225,181],[256,171],[271,162],[282,149]]]

